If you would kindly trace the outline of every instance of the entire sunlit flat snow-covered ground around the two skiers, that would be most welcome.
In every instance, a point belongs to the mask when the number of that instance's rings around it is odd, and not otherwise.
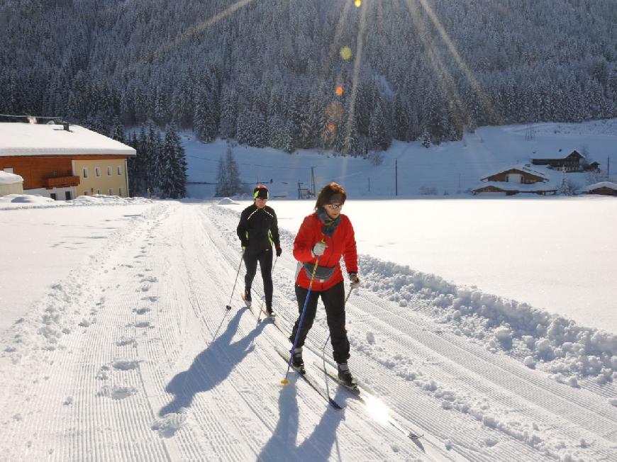
[[[269,322],[257,325],[238,295],[233,310],[224,308],[240,261],[235,225],[243,203],[1,211],[1,232],[9,233],[2,242],[16,242],[10,258],[2,247],[0,261],[10,268],[3,278],[11,271],[35,277],[26,289],[17,277],[2,288],[3,313],[9,297],[29,308],[0,337],[0,458],[611,460],[615,334],[550,315],[535,300],[532,307],[528,298],[503,298],[513,296],[510,286],[490,286],[489,278],[477,289],[457,284],[474,283],[491,261],[492,271],[499,271],[499,259],[521,264],[517,253],[524,249],[526,257],[538,257],[536,268],[552,261],[557,278],[574,271],[567,286],[577,271],[596,271],[578,293],[582,303],[599,305],[601,295],[592,292],[610,283],[601,273],[614,274],[615,250],[598,229],[614,227],[614,204],[350,199],[344,213],[362,254],[362,288],[347,309],[350,367],[380,403],[367,409],[319,373],[313,361],[321,362],[327,336],[323,312],[305,355],[311,376],[324,390],[328,384],[343,411],[328,407],[294,373],[289,385],[279,385],[286,364],[276,349],[289,347],[296,316],[291,242],[310,201],[272,201],[283,228],[284,253],[274,271],[282,332]],[[515,233],[507,217],[523,207],[530,219]],[[578,218],[563,218],[571,210]],[[469,213],[482,226],[465,230],[462,216]],[[534,218],[542,222],[534,226]],[[67,231],[44,225],[52,220]],[[574,232],[561,232],[572,223]],[[509,234],[496,238],[501,232]],[[86,241],[88,235],[99,238]],[[459,240],[478,265],[469,280],[447,271]],[[572,247],[579,249],[575,264],[567,256]],[[504,253],[495,255],[495,248]],[[50,259],[62,263],[47,271],[53,277],[39,279],[45,272],[39,265]],[[462,266],[456,275],[465,275]],[[496,283],[500,278],[495,274]],[[606,287],[606,299],[614,300],[615,289]],[[594,317],[610,320],[615,307],[603,306]],[[328,346],[331,364],[330,353]],[[423,439],[411,441],[384,425],[384,412]]]

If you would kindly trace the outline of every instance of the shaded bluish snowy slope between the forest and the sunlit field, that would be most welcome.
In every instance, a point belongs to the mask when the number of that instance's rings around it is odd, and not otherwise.
[[[531,133],[530,133],[531,131]],[[216,182],[218,161],[226,154],[226,143],[217,140],[203,144],[194,135],[183,137],[187,151],[189,181]],[[301,188],[311,185],[311,166],[316,188],[330,181],[338,181],[355,198],[391,198],[395,193],[395,160],[398,169],[398,196],[410,197],[423,193],[455,195],[479,185],[484,176],[516,164],[530,163],[533,157],[549,154],[567,156],[572,150],[587,153],[590,160],[599,162],[601,175],[606,178],[608,159],[611,177],[617,179],[617,119],[587,123],[543,123],[478,128],[465,133],[461,141],[443,142],[428,149],[420,142],[394,142],[383,152],[383,163],[375,166],[366,159],[335,157],[332,152],[320,154],[316,150],[300,150],[294,154],[270,148],[238,145],[233,154],[240,167],[240,179],[249,185],[273,181],[272,195],[298,198]],[[560,151],[561,150],[561,151]],[[541,169],[559,186],[560,171]],[[583,187],[599,181],[595,175],[567,174],[567,179]],[[270,184],[268,184],[270,186]],[[252,186],[250,186],[252,187]],[[189,196],[211,198],[213,185],[189,185]]]

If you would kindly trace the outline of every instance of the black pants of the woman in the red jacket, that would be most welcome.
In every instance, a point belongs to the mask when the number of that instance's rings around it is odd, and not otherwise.
[[[300,316],[296,320],[294,329],[291,331],[291,343],[296,339],[298,332],[298,323],[304,308],[304,301],[309,289],[296,284],[296,299],[298,300],[298,312]],[[326,307],[326,318],[328,327],[330,328],[330,343],[332,344],[334,361],[337,363],[346,363],[349,359],[349,340],[347,339],[347,329],[345,329],[345,286],[343,281],[330,287],[327,291],[311,291],[309,295],[309,303],[306,304],[306,313],[300,329],[298,344],[296,347],[302,347],[306,340],[306,334],[313,327],[313,320],[317,313],[317,301],[321,296],[321,301]]]

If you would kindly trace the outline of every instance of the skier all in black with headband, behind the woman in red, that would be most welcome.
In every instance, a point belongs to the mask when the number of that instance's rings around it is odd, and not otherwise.
[[[274,317],[274,311],[272,311],[272,244],[276,249],[277,257],[280,257],[283,251],[279,239],[279,225],[274,209],[266,205],[268,188],[261,184],[257,185],[253,190],[253,198],[255,202],[242,211],[236,230],[244,249],[246,266],[243,299],[250,306],[250,287],[257,272],[257,261],[259,261],[264,280],[266,311],[270,317]]]

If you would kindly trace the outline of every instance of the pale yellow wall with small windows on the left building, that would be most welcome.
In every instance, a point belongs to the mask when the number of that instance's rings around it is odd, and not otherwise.
[[[128,185],[126,184],[126,160],[125,159],[96,159],[96,160],[73,160],[73,173],[79,175],[77,196],[109,194],[112,189],[113,196],[127,197]],[[96,167],[101,169],[101,176],[96,176]],[[111,167],[111,176],[107,174],[107,167]],[[121,174],[118,175],[118,167]],[[84,178],[84,168],[88,169],[88,178]],[[122,188],[122,193],[120,193]]]

